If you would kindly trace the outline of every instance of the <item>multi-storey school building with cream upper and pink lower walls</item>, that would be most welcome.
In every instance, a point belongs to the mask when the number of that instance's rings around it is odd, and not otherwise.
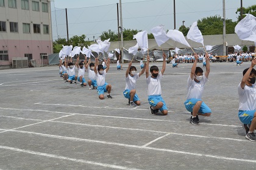
[[[51,53],[51,2],[0,0],[0,66],[41,66]]]

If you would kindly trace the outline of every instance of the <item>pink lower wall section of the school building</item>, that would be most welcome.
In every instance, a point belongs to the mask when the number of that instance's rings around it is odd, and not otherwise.
[[[24,57],[25,53],[32,53],[33,60],[38,62],[40,53],[51,54],[51,41],[0,39],[0,50],[8,50],[9,55],[9,61],[0,61],[0,65],[10,64],[12,57]]]

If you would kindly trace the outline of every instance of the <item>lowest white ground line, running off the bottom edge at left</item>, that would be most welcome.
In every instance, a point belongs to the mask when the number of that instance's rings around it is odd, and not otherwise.
[[[1,149],[6,149],[6,150],[11,150],[11,151],[16,151],[16,152],[23,152],[23,153],[27,153],[27,154],[40,155],[40,156],[43,156],[43,157],[57,158],[57,159],[60,159],[60,160],[69,160],[69,161],[76,161],[76,162],[79,162],[79,163],[87,163],[87,164],[91,164],[91,165],[104,166],[104,167],[108,167],[108,168],[137,170],[136,168],[128,168],[126,166],[118,166],[118,165],[111,165],[111,164],[107,164],[107,163],[99,163],[99,162],[96,162],[96,161],[89,161],[89,160],[81,160],[81,159],[76,159],[76,158],[63,157],[63,156],[59,156],[59,155],[46,154],[46,153],[43,153],[43,152],[35,152],[35,151],[26,150],[26,149],[12,148],[12,147],[8,147],[8,146],[0,146],[0,148]]]

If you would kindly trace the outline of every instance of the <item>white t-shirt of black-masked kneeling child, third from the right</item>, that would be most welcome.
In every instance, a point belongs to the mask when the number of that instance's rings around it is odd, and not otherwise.
[[[150,95],[161,95],[161,79],[163,78],[162,72],[159,72],[157,78],[152,78],[149,76],[146,81],[148,84],[148,96]]]

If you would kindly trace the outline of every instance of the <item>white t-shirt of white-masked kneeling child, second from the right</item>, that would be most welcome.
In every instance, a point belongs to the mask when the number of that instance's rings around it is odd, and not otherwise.
[[[191,80],[191,77],[188,77],[188,95],[187,100],[190,98],[202,98],[202,93],[204,91],[204,84],[208,81],[208,79],[203,75],[201,81],[196,83],[196,81]]]

